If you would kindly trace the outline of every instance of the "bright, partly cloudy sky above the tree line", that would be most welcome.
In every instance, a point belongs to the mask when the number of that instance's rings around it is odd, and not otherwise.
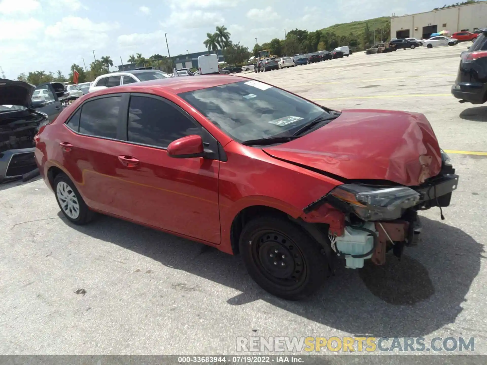
[[[130,55],[205,51],[206,33],[225,25],[250,49],[284,30],[413,14],[453,0],[0,0],[0,67],[5,77],[86,66],[101,56],[114,65]]]

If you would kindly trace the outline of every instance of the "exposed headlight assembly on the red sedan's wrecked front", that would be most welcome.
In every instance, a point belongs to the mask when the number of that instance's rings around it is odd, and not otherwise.
[[[363,220],[398,219],[420,201],[419,193],[406,186],[343,184],[330,194],[348,203]]]

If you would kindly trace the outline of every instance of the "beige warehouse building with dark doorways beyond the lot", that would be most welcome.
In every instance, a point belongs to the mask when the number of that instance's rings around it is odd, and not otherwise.
[[[472,32],[487,27],[487,1],[391,18],[391,38],[425,38],[442,30]]]

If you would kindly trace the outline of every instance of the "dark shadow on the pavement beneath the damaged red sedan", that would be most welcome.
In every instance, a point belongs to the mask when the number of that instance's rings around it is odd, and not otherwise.
[[[239,256],[107,216],[86,226],[63,221],[88,236],[240,291],[227,298],[228,305],[261,299],[356,335],[419,337],[453,323],[484,252],[462,230],[423,217],[418,246],[406,248],[401,260],[388,255],[385,266],[367,262],[359,270],[340,268],[314,296],[293,302],[258,287]]]

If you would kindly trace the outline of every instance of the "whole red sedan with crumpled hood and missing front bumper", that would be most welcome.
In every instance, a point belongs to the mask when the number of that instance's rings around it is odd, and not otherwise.
[[[95,91],[35,143],[71,222],[103,213],[240,254],[286,299],[337,265],[400,256],[417,211],[448,206],[458,183],[422,114],[331,110],[239,76]]]

